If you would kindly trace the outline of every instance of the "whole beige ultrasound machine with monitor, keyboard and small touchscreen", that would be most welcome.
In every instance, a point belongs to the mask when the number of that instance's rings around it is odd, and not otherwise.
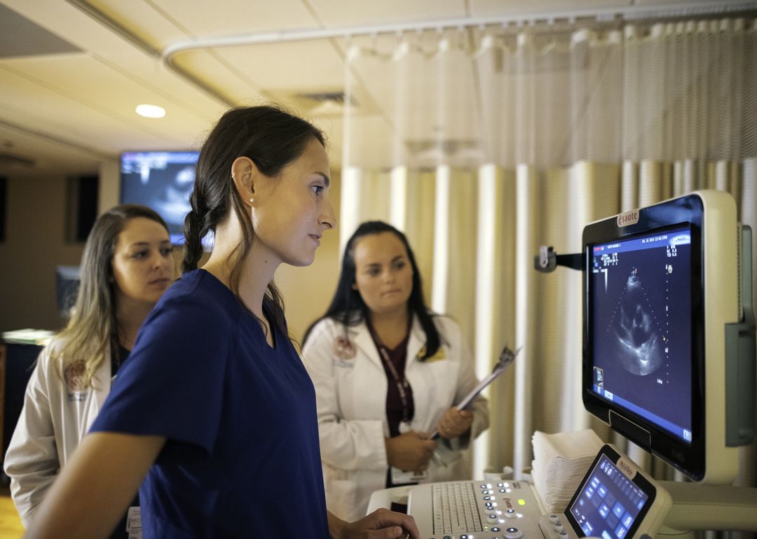
[[[757,531],[757,488],[731,486],[754,440],[752,232],[721,191],[590,223],[580,255],[543,248],[540,271],[583,274],[584,407],[690,482],[656,481],[604,445],[559,514],[524,481],[441,482],[407,496],[423,539],[651,538]]]

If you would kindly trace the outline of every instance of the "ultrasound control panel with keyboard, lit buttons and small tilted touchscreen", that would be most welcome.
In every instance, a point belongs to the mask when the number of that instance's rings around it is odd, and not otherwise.
[[[407,509],[423,539],[638,539],[654,536],[670,506],[664,488],[606,444],[560,514],[543,515],[522,481],[416,485]]]

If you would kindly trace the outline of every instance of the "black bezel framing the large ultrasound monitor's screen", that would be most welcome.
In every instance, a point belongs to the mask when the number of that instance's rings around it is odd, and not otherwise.
[[[637,210],[637,221],[626,224],[616,217],[597,221],[584,228],[584,353],[582,395],[584,407],[608,423],[636,445],[662,458],[691,479],[701,480],[706,473],[706,385],[705,385],[705,316],[703,294],[705,283],[702,225],[704,206],[696,195],[668,200],[664,203]],[[691,237],[691,420],[690,443],[671,432],[656,426],[650,420],[608,401],[593,392],[593,305],[590,287],[592,246],[613,240],[654,235],[688,226]]]

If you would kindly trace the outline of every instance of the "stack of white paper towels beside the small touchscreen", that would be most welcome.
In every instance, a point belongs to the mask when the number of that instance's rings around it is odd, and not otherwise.
[[[547,513],[562,513],[603,442],[591,429],[556,434],[536,431],[531,445],[534,488]]]

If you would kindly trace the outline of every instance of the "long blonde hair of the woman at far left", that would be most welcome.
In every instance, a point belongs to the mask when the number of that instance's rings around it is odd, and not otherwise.
[[[60,345],[51,348],[51,360],[61,366],[61,379],[67,368],[83,363],[77,386],[92,386],[92,378],[105,360],[107,350],[118,351],[116,283],[113,280],[113,255],[118,234],[126,221],[143,217],[156,221],[168,231],[166,222],[153,210],[136,204],[109,209],[98,217],[87,237],[81,263],[76,303],[68,324],[58,333]],[[73,389],[73,388],[72,388]]]

